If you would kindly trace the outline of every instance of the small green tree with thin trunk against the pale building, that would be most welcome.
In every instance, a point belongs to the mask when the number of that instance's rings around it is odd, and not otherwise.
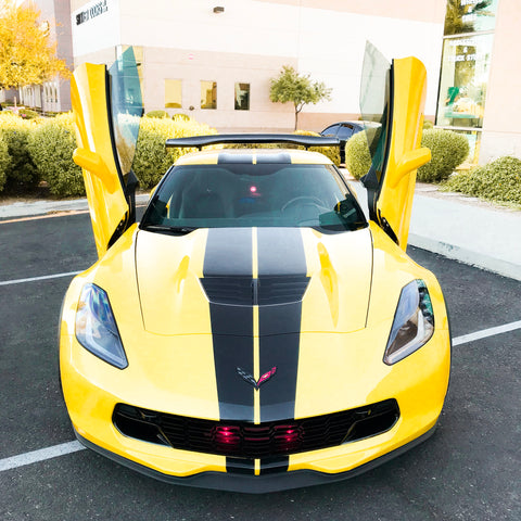
[[[331,99],[331,90],[322,81],[312,81],[309,75],[300,75],[292,66],[284,65],[277,78],[271,78],[269,99],[274,103],[292,102],[295,107],[295,130],[298,113],[308,103]]]

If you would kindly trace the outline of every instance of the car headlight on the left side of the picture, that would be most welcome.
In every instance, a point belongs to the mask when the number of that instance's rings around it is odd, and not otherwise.
[[[96,284],[85,284],[76,312],[76,339],[93,355],[119,369],[128,366],[109,295]]]

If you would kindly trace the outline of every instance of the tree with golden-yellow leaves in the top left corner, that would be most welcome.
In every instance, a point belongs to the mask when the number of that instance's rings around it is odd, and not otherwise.
[[[16,5],[14,0],[0,0],[0,87],[41,85],[56,74],[69,76],[39,16],[31,3]]]

